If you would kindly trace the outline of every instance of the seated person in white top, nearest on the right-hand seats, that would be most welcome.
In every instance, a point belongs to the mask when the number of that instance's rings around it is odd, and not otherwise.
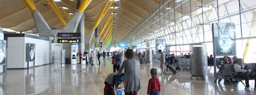
[[[245,90],[250,91],[249,85],[249,74],[250,70],[245,70],[242,67],[243,60],[241,58],[237,59],[237,64],[234,64],[234,70],[237,73],[234,77],[235,78],[242,78],[245,79]]]

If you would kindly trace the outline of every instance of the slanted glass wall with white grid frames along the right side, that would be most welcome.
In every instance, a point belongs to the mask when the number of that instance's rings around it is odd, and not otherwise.
[[[255,62],[256,3],[255,0],[160,0],[147,18],[134,29],[132,45],[155,48],[155,39],[166,39],[170,53],[190,52],[190,44],[205,43],[208,55],[213,54],[212,23],[234,23],[237,57],[245,63]],[[240,7],[239,7],[240,6]],[[147,47],[144,39],[148,39]],[[131,40],[130,40],[131,41]]]

